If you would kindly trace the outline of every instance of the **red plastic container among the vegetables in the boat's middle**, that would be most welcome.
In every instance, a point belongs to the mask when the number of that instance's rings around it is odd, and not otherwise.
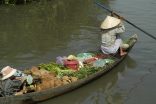
[[[64,65],[73,70],[78,70],[79,62],[77,60],[64,60]]]

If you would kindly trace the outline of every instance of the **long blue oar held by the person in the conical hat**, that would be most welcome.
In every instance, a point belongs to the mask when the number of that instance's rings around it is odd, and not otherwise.
[[[106,9],[107,11],[109,11],[110,13],[112,13],[113,11],[112,10],[109,10],[107,7],[105,7],[104,5],[100,4],[99,2],[97,2],[96,0],[94,0],[94,3],[99,5],[100,7]],[[118,14],[114,13],[114,15],[118,16]],[[126,21],[127,23],[131,24],[132,26],[136,27],[137,29],[139,29],[140,31],[144,32],[145,34],[149,35],[150,37],[152,37],[153,39],[156,40],[156,37],[155,36],[152,36],[151,34],[149,34],[148,32],[144,31],[143,29],[137,27],[136,25],[132,24],[131,22],[129,22],[128,20],[126,20],[125,18],[123,18],[124,21]]]

